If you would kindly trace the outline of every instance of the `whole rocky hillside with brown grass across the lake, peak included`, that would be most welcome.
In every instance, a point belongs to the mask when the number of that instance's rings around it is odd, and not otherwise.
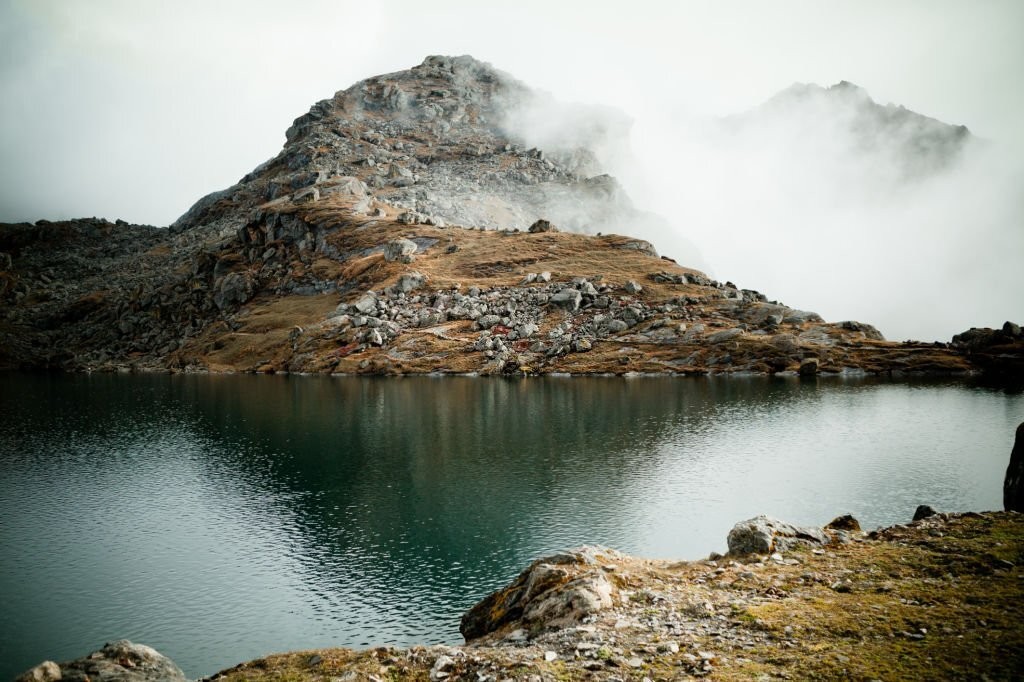
[[[471,57],[428,57],[317,102],[276,157],[168,229],[0,226],[0,365],[973,369],[943,344],[827,324],[608,235],[656,220],[601,173],[593,151],[625,124],[610,114],[588,116],[586,129],[555,121],[551,150],[525,148],[516,131],[539,97]]]

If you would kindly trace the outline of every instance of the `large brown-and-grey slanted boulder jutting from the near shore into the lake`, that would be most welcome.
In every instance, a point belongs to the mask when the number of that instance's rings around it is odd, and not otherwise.
[[[485,597],[462,616],[466,641],[511,626],[567,626],[609,608],[614,588],[607,570],[618,552],[603,547],[538,559],[506,588]],[[607,568],[606,568],[607,567]]]

